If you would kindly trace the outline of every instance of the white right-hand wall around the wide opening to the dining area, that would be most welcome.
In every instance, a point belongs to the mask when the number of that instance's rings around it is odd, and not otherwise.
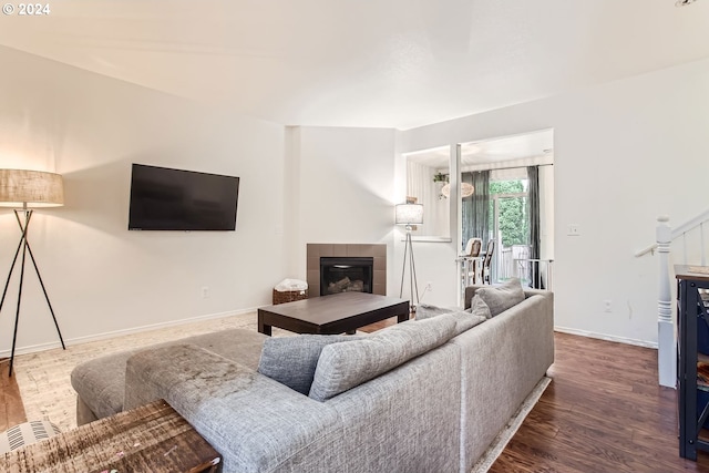
[[[658,215],[677,225],[707,208],[709,60],[409,130],[400,152],[544,128],[555,141],[556,325],[656,342],[658,261],[634,253],[654,241]],[[440,268],[449,253],[431,249],[418,267]]]

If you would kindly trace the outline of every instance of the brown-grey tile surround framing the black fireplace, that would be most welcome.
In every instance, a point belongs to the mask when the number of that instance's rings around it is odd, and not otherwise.
[[[320,296],[320,257],[372,257],[372,294],[387,295],[387,245],[386,244],[333,244],[309,243],[307,245],[308,297]]]

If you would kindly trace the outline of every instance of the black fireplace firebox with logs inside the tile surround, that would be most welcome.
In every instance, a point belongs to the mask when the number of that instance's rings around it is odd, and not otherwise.
[[[372,294],[371,257],[320,257],[320,296],[337,292]]]

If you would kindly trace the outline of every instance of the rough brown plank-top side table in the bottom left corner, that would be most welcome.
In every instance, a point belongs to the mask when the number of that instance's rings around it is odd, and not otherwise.
[[[161,400],[6,453],[0,471],[214,473],[220,463],[212,445]]]

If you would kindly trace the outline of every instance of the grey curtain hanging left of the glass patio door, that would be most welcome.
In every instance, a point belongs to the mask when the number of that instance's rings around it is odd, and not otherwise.
[[[475,187],[473,195],[463,198],[462,202],[463,238],[461,245],[464,248],[470,238],[481,238],[484,248],[490,238],[490,171],[462,173],[461,181]]]

